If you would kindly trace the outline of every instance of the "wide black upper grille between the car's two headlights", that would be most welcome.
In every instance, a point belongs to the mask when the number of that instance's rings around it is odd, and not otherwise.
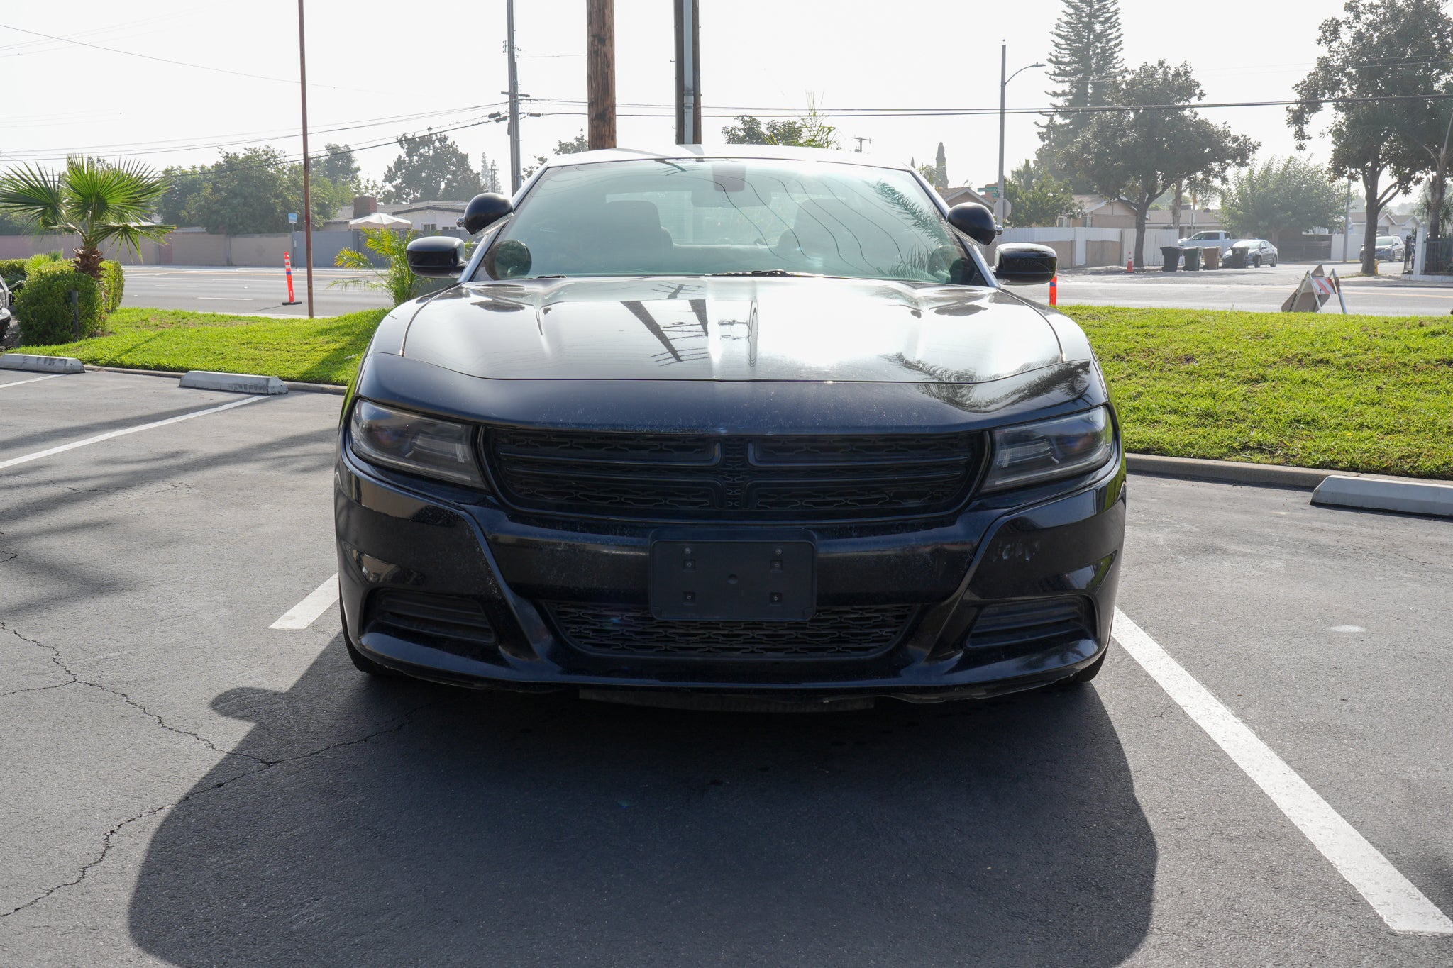
[[[638,520],[920,517],[968,499],[984,435],[709,435],[494,428],[485,460],[511,505]]]

